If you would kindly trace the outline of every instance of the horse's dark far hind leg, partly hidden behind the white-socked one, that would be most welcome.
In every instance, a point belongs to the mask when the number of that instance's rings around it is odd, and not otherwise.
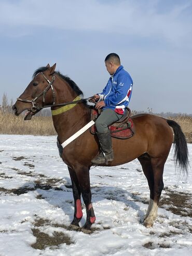
[[[140,161],[145,177],[147,178],[147,182],[150,190],[149,205],[148,205],[147,213],[144,218],[146,219],[149,215],[150,210],[152,209],[153,201],[154,201],[154,174],[153,174],[153,168],[152,168],[152,164],[150,163],[149,156],[147,155],[141,156],[138,158],[138,160]]]

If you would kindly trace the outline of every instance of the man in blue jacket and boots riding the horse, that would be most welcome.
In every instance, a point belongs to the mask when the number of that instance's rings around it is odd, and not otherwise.
[[[108,125],[115,123],[124,114],[129,104],[133,81],[131,76],[120,64],[120,58],[116,53],[110,53],[105,58],[105,66],[111,75],[102,93],[93,96],[95,107],[102,110],[95,122],[97,136],[102,152],[92,159],[92,164],[101,165],[114,159],[112,138]]]

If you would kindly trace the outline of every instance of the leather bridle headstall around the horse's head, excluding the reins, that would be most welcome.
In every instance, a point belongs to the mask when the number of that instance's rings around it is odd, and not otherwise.
[[[41,109],[43,109],[43,108],[45,107],[45,105],[44,105],[44,104],[45,104],[45,96],[46,96],[47,91],[48,91],[50,88],[51,88],[51,91],[52,91],[52,98],[53,98],[52,105],[54,105],[54,103],[55,103],[55,98],[56,98],[56,97],[55,97],[55,92],[54,92],[54,89],[53,89],[53,82],[54,82],[54,79],[56,79],[56,77],[53,76],[52,79],[51,79],[51,82],[50,82],[49,79],[47,79],[47,77],[44,75],[43,72],[40,72],[40,74],[42,74],[42,76],[45,78],[45,80],[46,80],[47,83],[48,83],[48,86],[45,88],[45,90],[42,91],[42,92],[40,92],[39,95],[38,95],[37,97],[35,97],[33,100],[23,100],[23,99],[21,99],[21,98],[17,98],[17,100],[19,100],[19,101],[31,103],[31,104],[32,104],[32,107],[31,107],[31,111],[32,111],[32,112],[36,112],[37,110],[41,110]],[[37,100],[38,98],[40,98],[42,95],[43,95],[42,107],[38,107],[38,106],[36,105],[36,100]]]

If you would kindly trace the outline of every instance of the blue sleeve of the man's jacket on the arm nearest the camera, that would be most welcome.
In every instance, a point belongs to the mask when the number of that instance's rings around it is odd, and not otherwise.
[[[106,106],[119,105],[129,101],[132,91],[132,80],[128,76],[120,76],[117,79],[117,89],[113,95],[108,96],[104,102]]]

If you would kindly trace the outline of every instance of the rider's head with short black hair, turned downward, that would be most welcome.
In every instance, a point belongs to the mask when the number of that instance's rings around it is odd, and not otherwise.
[[[115,73],[120,64],[120,58],[116,53],[109,53],[105,58],[105,66],[110,75]]]

